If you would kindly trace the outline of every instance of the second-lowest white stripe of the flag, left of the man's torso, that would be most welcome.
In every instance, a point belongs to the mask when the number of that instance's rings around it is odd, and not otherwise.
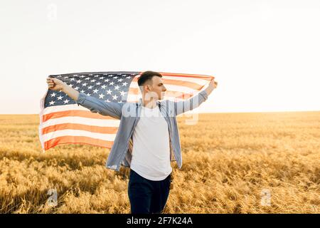
[[[46,128],[48,126],[62,124],[62,123],[78,123],[83,125],[92,125],[98,127],[119,127],[120,120],[103,120],[103,119],[95,119],[95,118],[84,118],[78,116],[71,117],[62,117],[62,118],[53,118],[49,119],[46,122],[43,122],[42,127]]]

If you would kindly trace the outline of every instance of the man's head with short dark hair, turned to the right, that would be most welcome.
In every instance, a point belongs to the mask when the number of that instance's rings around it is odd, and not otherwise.
[[[138,86],[142,91],[142,95],[148,95],[156,100],[163,99],[166,87],[161,78],[161,73],[144,71],[138,78]]]

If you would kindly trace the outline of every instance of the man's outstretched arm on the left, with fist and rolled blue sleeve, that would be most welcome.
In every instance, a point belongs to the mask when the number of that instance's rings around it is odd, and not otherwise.
[[[55,91],[63,91],[71,99],[75,100],[78,105],[82,105],[88,108],[92,113],[99,113],[101,115],[109,115],[113,118],[120,119],[122,115],[123,103],[106,103],[98,98],[85,95],[85,93],[79,93],[74,88],[68,86],[58,78],[47,78],[48,88]]]

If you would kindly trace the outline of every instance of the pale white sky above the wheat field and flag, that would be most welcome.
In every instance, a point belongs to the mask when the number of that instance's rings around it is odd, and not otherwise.
[[[0,114],[40,112],[50,74],[215,76],[199,112],[320,110],[320,1],[0,1]]]

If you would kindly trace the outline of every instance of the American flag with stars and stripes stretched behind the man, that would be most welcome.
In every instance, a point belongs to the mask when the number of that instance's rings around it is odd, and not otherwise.
[[[51,75],[80,93],[105,102],[137,102],[142,98],[138,78],[142,72],[90,72]],[[159,72],[161,73],[161,72]],[[164,99],[185,100],[206,87],[213,76],[161,73]],[[111,148],[119,121],[92,113],[62,91],[48,90],[41,99],[39,139],[43,152],[59,144],[88,144]]]

